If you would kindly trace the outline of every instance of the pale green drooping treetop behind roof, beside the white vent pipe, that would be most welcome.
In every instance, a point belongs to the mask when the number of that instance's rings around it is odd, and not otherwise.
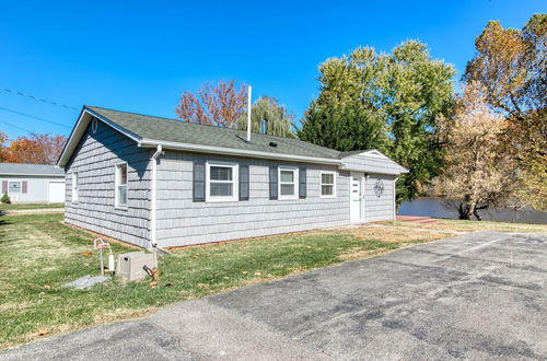
[[[278,137],[294,137],[292,132],[292,115],[279,104],[275,97],[261,96],[251,107],[251,131],[261,132],[263,120],[266,121],[266,133]],[[237,120],[236,128],[247,129],[247,112]]]

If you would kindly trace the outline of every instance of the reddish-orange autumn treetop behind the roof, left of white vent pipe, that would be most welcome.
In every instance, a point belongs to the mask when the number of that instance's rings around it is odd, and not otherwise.
[[[234,128],[245,112],[247,90],[235,80],[206,83],[197,92],[184,92],[175,112],[179,119],[208,126]]]

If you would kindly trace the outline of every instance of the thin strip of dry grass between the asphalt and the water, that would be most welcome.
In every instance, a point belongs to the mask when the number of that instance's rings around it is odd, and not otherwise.
[[[415,222],[386,222],[392,226],[416,228],[423,230],[452,231],[452,232],[476,232],[476,231],[500,231],[515,233],[547,233],[547,224],[510,223],[490,221],[463,221],[463,220],[437,220],[438,224]]]

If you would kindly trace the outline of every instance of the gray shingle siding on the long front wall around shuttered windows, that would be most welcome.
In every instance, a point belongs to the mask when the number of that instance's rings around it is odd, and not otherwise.
[[[248,165],[249,200],[194,202],[194,161]],[[306,198],[270,200],[270,165],[305,167]],[[336,198],[319,198],[322,170],[336,167],[167,151],[158,166],[158,242],[160,246],[179,246],[347,224],[349,173],[337,177]]]

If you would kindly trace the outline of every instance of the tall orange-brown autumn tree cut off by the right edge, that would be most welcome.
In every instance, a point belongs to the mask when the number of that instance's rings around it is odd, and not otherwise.
[[[519,198],[547,210],[547,14],[522,30],[487,24],[464,80],[479,82],[486,102],[508,120],[505,152],[519,162]]]

